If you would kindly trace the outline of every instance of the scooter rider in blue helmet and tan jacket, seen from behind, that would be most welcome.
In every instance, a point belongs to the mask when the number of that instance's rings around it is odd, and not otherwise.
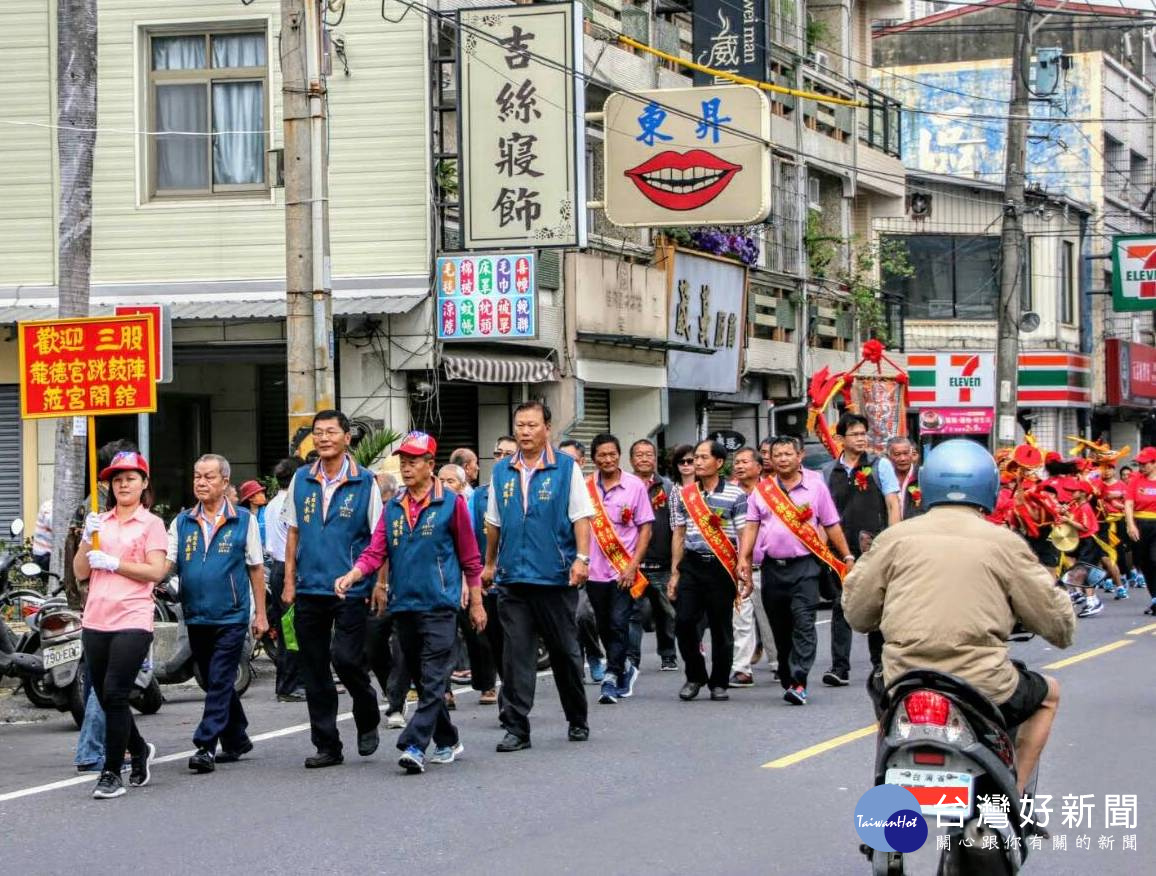
[[[1076,618],[1067,593],[1027,542],[984,519],[999,492],[991,454],[975,441],[935,447],[919,473],[922,517],[885,529],[843,582],[843,610],[859,632],[880,630],[883,683],[913,669],[964,680],[1016,733],[1017,790],[1039,762],[1060,686],[1011,661],[1018,619],[1059,648]]]

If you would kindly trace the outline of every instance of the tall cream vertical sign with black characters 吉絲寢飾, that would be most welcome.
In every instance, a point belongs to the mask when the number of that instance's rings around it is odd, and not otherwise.
[[[581,15],[458,12],[464,250],[586,245]]]

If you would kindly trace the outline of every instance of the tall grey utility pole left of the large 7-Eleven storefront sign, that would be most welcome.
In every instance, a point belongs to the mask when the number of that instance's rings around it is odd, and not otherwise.
[[[1011,103],[1003,169],[1003,228],[1000,238],[1000,303],[995,341],[994,447],[1015,444],[1016,394],[1020,370],[1020,318],[1023,307],[1023,206],[1028,163],[1028,113],[1031,92],[1032,0],[1021,0],[1011,45]]]

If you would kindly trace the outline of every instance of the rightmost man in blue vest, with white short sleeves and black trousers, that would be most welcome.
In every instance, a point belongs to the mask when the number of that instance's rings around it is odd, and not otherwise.
[[[550,447],[550,409],[540,401],[513,413],[518,453],[494,467],[486,508],[483,586],[498,586],[502,727],[498,751],[529,748],[538,682],[538,637],[550,654],[571,742],[590,738],[578,649],[578,587],[590,576],[594,507],[581,469]]]

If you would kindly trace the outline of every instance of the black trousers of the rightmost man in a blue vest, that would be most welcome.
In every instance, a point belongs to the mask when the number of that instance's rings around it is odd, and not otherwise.
[[[538,686],[538,637],[550,654],[554,683],[571,727],[586,727],[586,689],[578,649],[578,591],[536,584],[498,588],[504,634],[499,720],[506,733],[529,738],[529,711]]]

